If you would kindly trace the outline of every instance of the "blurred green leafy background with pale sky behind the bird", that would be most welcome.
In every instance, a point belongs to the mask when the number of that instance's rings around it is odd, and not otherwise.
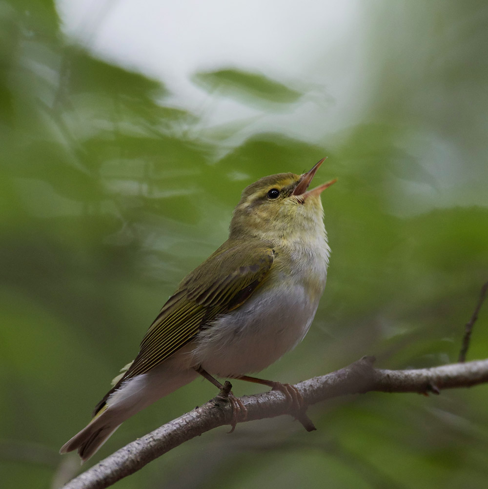
[[[59,447],[262,176],[328,156],[317,178],[338,178],[319,311],[264,378],[454,362],[488,280],[485,1],[170,3],[0,1],[3,488],[80,470]],[[468,359],[487,345],[485,305]],[[180,389],[84,468],[214,395]],[[116,487],[484,488],[487,405],[488,386],[336,399],[316,432],[222,427]]]

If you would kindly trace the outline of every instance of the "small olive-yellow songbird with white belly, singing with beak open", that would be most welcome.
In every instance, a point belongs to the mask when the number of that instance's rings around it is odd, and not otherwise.
[[[302,175],[271,175],[244,189],[229,239],[181,281],[139,354],[61,453],[77,449],[85,462],[123,421],[199,375],[294,397],[288,384],[246,374],[293,349],[317,311],[330,254],[320,194],[335,180],[307,189],[324,159]]]

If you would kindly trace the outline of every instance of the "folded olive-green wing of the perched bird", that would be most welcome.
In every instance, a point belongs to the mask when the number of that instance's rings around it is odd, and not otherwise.
[[[262,242],[223,244],[180,283],[144,336],[124,378],[144,374],[188,343],[220,314],[238,308],[266,280],[274,251]]]

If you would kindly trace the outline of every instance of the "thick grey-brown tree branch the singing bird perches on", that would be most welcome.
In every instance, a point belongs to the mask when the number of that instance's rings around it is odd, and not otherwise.
[[[348,367],[295,385],[308,404],[348,394],[379,392],[417,392],[439,394],[441,389],[469,387],[488,382],[488,359],[454,363],[417,370],[373,368],[374,357],[365,356]],[[289,402],[279,391],[241,398],[248,421],[273,418],[289,412]],[[64,489],[103,489],[133,474],[146,464],[192,438],[213,428],[229,424],[232,410],[222,399],[164,424],[151,433],[116,451],[99,464],[68,482]]]

